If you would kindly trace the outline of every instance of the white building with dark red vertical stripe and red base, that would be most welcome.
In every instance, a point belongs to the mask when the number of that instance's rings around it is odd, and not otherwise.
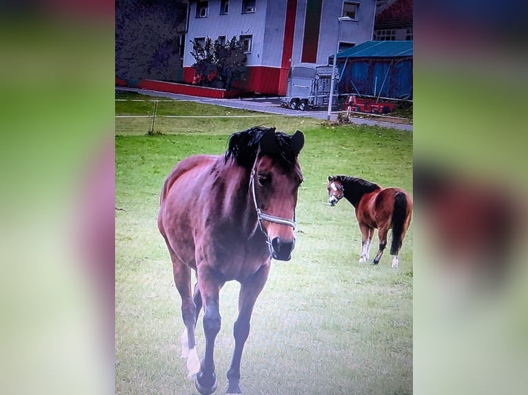
[[[290,66],[327,64],[338,41],[343,50],[372,40],[375,8],[376,0],[190,0],[183,79],[194,78],[192,39],[237,36],[247,48],[247,73],[234,87],[284,95]]]

